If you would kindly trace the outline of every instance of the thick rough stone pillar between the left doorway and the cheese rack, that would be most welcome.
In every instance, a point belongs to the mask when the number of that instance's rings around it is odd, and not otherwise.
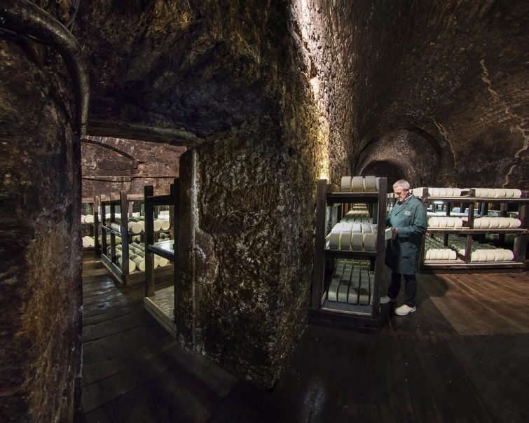
[[[266,49],[254,46],[270,109],[181,163],[191,207],[180,216],[177,330],[184,344],[271,387],[306,324],[314,188],[328,155],[289,10],[261,13],[275,26]],[[268,34],[253,36],[263,43]]]

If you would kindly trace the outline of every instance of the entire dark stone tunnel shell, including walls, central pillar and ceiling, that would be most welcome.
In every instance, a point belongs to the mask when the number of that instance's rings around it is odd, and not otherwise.
[[[306,326],[318,179],[528,188],[528,7],[1,0],[0,415],[78,407],[82,139],[188,149],[179,340],[272,387]]]

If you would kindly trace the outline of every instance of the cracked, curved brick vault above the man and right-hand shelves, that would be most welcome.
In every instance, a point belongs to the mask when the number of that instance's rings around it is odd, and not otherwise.
[[[346,153],[359,172],[364,147],[387,137],[403,146],[406,137],[399,134],[406,130],[439,146],[434,160],[443,166],[427,175],[428,183],[528,185],[527,4],[293,3],[315,78],[325,87],[330,144],[347,140],[344,148],[331,148],[331,162],[334,154]],[[416,150],[413,144],[405,148]],[[429,153],[415,158],[419,167],[431,161]],[[396,165],[384,154],[373,155],[376,161]],[[406,177],[416,163],[401,167]]]

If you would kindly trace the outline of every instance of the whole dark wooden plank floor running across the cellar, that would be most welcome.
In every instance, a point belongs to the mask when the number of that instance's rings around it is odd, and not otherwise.
[[[87,422],[529,421],[528,272],[418,275],[417,312],[384,305],[375,333],[308,326],[263,391],[181,349],[143,286],[84,263]]]

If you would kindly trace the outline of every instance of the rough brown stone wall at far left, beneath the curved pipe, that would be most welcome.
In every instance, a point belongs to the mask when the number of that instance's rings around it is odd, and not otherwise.
[[[21,38],[0,36],[0,74],[0,421],[71,422],[82,347],[71,83],[53,48]]]

